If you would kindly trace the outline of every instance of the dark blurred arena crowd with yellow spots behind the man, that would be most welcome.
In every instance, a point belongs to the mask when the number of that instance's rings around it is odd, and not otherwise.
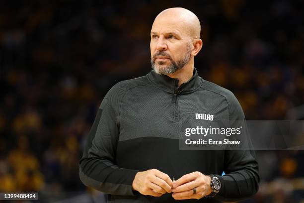
[[[79,180],[97,109],[151,71],[150,30],[169,7],[202,25],[199,75],[231,90],[247,120],[304,119],[303,0],[0,0],[0,192],[104,202]],[[246,203],[304,203],[304,153],[257,151]]]

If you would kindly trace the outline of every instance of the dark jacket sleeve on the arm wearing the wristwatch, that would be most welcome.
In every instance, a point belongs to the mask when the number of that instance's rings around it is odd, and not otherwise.
[[[231,93],[227,98],[229,108],[229,121],[231,127],[236,126],[240,122],[245,121],[243,110]],[[238,124],[237,124],[238,123]],[[243,122],[244,123],[244,122]],[[246,125],[246,123],[244,123]],[[245,130],[247,128],[245,127]],[[226,175],[216,175],[222,184],[219,194],[216,199],[225,202],[240,201],[249,198],[257,193],[259,185],[258,163],[247,130],[244,133],[247,146],[245,150],[227,150],[225,151],[225,165],[224,172]]]

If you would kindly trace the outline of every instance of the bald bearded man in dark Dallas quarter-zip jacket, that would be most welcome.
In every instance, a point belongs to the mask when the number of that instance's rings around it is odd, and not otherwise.
[[[159,13],[150,48],[153,71],[116,84],[102,101],[79,162],[81,181],[115,203],[254,195],[259,176],[251,151],[179,150],[180,122],[197,112],[215,120],[244,119],[231,92],[197,75],[194,57],[202,40],[196,15],[184,8]]]

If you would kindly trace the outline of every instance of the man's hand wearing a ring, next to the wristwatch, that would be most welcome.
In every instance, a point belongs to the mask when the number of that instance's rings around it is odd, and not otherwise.
[[[210,186],[211,178],[196,171],[182,176],[180,179],[173,182],[172,197],[175,200],[201,199],[206,195],[211,194]],[[196,193],[194,194],[193,189]]]

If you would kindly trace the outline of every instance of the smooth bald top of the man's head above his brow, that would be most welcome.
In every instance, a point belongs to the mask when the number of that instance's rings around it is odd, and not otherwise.
[[[200,38],[201,24],[198,17],[185,8],[168,8],[161,11],[154,19],[152,29],[155,26],[174,25],[178,30],[186,32],[191,39]]]

